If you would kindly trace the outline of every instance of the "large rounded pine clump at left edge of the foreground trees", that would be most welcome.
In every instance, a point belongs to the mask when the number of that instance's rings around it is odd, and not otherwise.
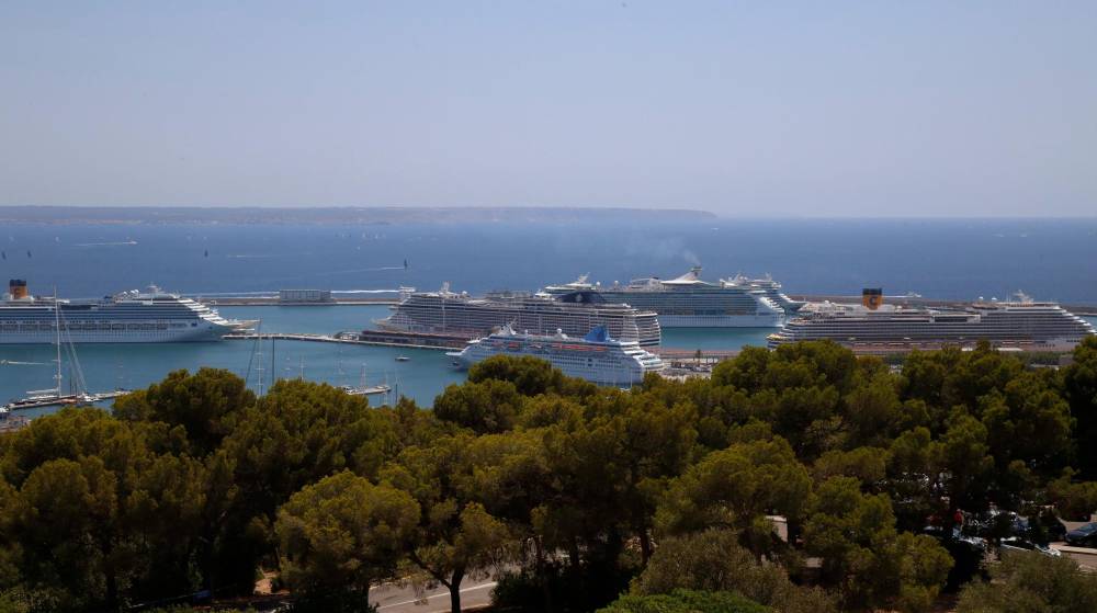
[[[50,610],[186,593],[205,508],[202,464],[158,454],[138,425],[68,409],[7,436],[3,556]]]

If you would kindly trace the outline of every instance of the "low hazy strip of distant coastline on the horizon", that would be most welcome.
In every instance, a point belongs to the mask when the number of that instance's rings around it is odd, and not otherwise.
[[[581,223],[630,219],[660,222],[716,219],[708,211],[671,208],[579,207],[397,207],[326,206],[201,207],[201,206],[3,206],[0,223],[23,224],[286,224],[391,225],[464,223]]]

